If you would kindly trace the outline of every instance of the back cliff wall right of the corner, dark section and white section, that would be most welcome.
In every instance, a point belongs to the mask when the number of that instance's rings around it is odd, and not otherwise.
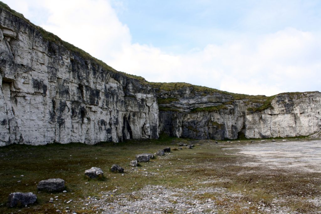
[[[268,107],[262,101],[236,100],[229,94],[204,95],[192,87],[158,91],[160,131],[196,139],[319,136],[321,93],[285,93]]]

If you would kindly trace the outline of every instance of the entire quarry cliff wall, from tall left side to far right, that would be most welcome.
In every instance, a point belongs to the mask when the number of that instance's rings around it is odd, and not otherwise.
[[[0,146],[119,142],[162,132],[195,139],[320,136],[319,92],[168,89],[62,43],[0,8]]]

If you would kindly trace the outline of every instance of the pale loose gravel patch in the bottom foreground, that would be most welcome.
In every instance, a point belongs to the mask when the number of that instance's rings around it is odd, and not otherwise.
[[[232,193],[225,188],[166,188],[164,186],[145,186],[139,191],[113,196],[106,192],[102,199],[86,199],[89,207],[97,207],[101,213],[224,213],[235,211],[234,203],[239,204],[238,212],[246,213],[289,213],[289,209],[278,205],[278,200],[266,205],[244,201],[241,193]],[[206,193],[215,194],[213,198],[202,198]],[[110,201],[113,197],[114,201]],[[251,210],[253,210],[251,212]],[[318,212],[320,213],[320,212]]]

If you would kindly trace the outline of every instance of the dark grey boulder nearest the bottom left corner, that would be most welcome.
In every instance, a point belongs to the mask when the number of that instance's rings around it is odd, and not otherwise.
[[[7,206],[26,206],[29,204],[33,204],[34,202],[36,202],[36,200],[37,196],[32,192],[13,192],[9,194]]]

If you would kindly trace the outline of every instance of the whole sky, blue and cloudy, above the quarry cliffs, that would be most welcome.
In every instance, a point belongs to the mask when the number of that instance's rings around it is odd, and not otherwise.
[[[321,1],[2,0],[116,70],[241,94],[320,91]]]

